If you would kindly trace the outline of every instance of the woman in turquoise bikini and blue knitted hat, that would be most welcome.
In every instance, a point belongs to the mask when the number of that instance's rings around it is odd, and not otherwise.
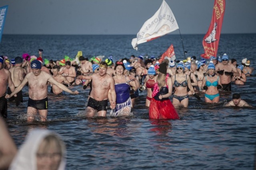
[[[218,89],[221,89],[222,85],[220,78],[215,73],[214,64],[208,65],[207,75],[204,77],[201,89],[206,90],[204,94],[204,101],[206,103],[218,103],[220,101],[220,94]]]

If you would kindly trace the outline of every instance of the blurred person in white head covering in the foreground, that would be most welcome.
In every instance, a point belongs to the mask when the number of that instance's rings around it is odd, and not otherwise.
[[[60,137],[45,129],[28,132],[10,170],[64,170],[66,147]]]

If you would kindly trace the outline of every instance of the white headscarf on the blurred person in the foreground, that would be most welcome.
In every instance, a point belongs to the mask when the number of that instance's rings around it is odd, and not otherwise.
[[[10,170],[37,170],[36,152],[42,140],[54,134],[50,130],[34,129],[29,132],[25,142],[20,147],[17,155],[14,157]],[[56,135],[56,134],[54,134]],[[58,135],[56,135],[58,136]],[[66,165],[66,151],[63,150],[62,159],[58,170],[64,170]]]

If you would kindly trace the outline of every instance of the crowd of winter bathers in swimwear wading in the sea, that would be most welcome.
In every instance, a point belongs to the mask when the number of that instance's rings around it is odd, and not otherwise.
[[[90,87],[86,117],[106,117],[108,101],[111,116],[129,115],[138,99],[139,91],[146,90],[146,107],[150,107],[152,99],[157,104],[149,109],[150,119],[178,119],[175,108],[188,107],[190,95],[200,100],[198,93],[204,93],[205,102],[218,103],[220,90],[231,91],[232,81],[234,84],[244,85],[246,77],[251,76],[254,70],[250,67],[250,60],[242,59],[238,65],[236,59],[229,59],[226,54],[218,58],[210,57],[208,64],[205,59],[196,60],[195,56],[183,61],[172,61],[165,57],[161,63],[159,58],[144,58],[142,55],[131,55],[130,58],[120,59],[115,63],[112,56],[106,59],[104,56],[90,59],[83,56],[71,59],[65,56],[64,59],[53,61],[43,59],[41,49],[39,57],[25,53],[22,57],[11,59],[11,62],[6,56],[0,59],[3,68],[10,71],[16,87],[14,90],[9,85],[5,98],[9,101],[15,100],[18,106],[23,102],[22,88],[27,83],[29,85],[28,121],[34,120],[29,115],[35,115],[37,111],[42,117],[41,121],[47,120],[48,82],[51,86],[50,93],[56,95],[63,95],[63,91],[78,94],[78,91],[68,89],[70,85],[82,84],[83,89]],[[38,91],[38,85],[44,87],[42,91]],[[163,101],[170,100],[172,93],[172,103],[164,103]],[[161,109],[165,112],[165,105],[174,106],[169,107],[175,112],[171,117],[161,113]],[[250,106],[236,93],[233,100],[226,105]],[[5,112],[4,117],[7,117],[7,106]]]

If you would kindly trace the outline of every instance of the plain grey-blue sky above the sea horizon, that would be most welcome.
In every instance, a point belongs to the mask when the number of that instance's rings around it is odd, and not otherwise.
[[[166,0],[182,34],[206,34],[214,0]],[[0,0],[3,34],[134,34],[162,0]],[[256,0],[226,0],[222,34],[256,33]],[[178,34],[176,30],[172,34]]]

